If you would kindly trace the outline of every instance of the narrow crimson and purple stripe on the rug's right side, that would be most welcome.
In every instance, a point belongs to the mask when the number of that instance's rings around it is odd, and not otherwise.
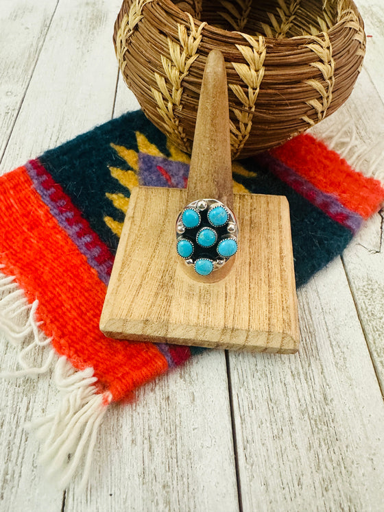
[[[317,206],[317,208],[326,213],[331,219],[344,225],[344,227],[348,228],[352,233],[356,233],[361,227],[363,223],[361,215],[348,210],[348,208],[339,202],[335,195],[320,191],[308,180],[302,178],[302,176],[298,175],[293,169],[283,162],[280,162],[277,158],[274,158],[271,154],[267,152],[262,153],[255,156],[254,160],[263,167],[267,167],[274,175],[280,178],[280,180],[291,186],[294,191],[305,197],[305,199],[314,206]]]

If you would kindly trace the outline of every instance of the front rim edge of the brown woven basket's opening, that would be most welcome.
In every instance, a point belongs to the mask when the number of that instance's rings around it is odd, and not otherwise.
[[[318,0],[318,1],[321,2],[322,0]],[[341,0],[341,1],[343,1],[343,0]],[[161,7],[161,5],[167,5],[169,11],[173,10],[175,12],[175,14],[177,14],[180,17],[180,19],[182,19],[184,21],[184,23],[186,25],[189,24],[189,16],[191,16],[191,18],[193,19],[193,22],[197,25],[197,27],[202,25],[202,23],[205,23],[204,31],[212,32],[216,36],[221,36],[221,37],[227,38],[227,39],[228,39],[228,37],[237,38],[237,36],[239,36],[239,39],[240,38],[242,39],[241,34],[247,34],[247,35],[250,35],[253,37],[259,37],[259,36],[254,36],[254,34],[250,34],[249,32],[240,32],[239,30],[226,30],[226,29],[221,29],[219,27],[215,27],[214,25],[211,25],[210,23],[208,23],[204,20],[197,19],[197,18],[195,18],[195,16],[192,16],[192,14],[189,14],[186,11],[183,11],[182,9],[180,9],[178,7],[178,5],[173,3],[172,0],[155,0],[155,2],[158,5],[160,5],[160,7]],[[339,2],[339,0],[337,0],[337,3],[338,2]],[[346,6],[346,9],[352,8],[352,10],[355,11],[355,14],[357,14],[357,16],[359,17],[359,19],[361,19],[361,14],[359,12],[359,9],[357,8],[357,5],[355,4],[355,1],[354,0],[344,0],[344,2],[348,3],[348,5]],[[148,5],[145,5],[146,3],[148,3]],[[152,4],[152,0],[148,0],[147,2],[145,2],[145,4],[143,5],[143,8],[145,8],[147,6],[149,7],[149,5]],[[335,25],[332,25],[332,27],[327,30],[326,34],[332,35],[334,32],[336,32],[337,29],[339,29],[339,26],[343,25],[344,23],[346,23],[346,20],[341,19],[340,21],[337,21],[337,23],[335,23]],[[266,45],[268,45],[268,44],[276,45],[276,43],[277,44],[279,44],[279,43],[286,44],[288,41],[293,42],[293,41],[298,41],[298,40],[308,40],[309,38],[318,37],[321,34],[324,34],[324,31],[317,32],[316,34],[308,34],[308,35],[303,35],[303,36],[292,36],[292,37],[286,37],[286,38],[280,38],[280,39],[274,38],[274,37],[269,37],[269,36],[261,36],[261,37],[264,38]]]

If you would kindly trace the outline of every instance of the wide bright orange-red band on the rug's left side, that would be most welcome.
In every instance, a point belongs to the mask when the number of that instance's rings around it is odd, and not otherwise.
[[[0,178],[0,185],[2,271],[16,276],[29,302],[38,299],[40,328],[58,354],[77,369],[93,366],[115,401],[166,371],[156,345],[114,340],[99,331],[106,287],[51,216],[25,168]]]

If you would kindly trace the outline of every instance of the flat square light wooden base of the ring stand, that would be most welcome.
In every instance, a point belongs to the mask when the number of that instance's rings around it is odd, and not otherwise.
[[[101,330],[110,337],[255,352],[296,352],[298,313],[285,197],[235,194],[239,252],[224,279],[197,282],[176,254],[187,192],[132,191]]]

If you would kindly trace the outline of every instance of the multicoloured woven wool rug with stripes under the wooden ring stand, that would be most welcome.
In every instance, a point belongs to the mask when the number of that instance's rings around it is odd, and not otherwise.
[[[108,404],[202,350],[108,339],[98,327],[132,187],[182,188],[188,172],[189,156],[139,111],[0,178],[0,326],[20,365],[3,376],[54,367],[62,402],[34,426],[62,486],[79,464],[86,480]],[[309,134],[235,162],[233,176],[236,192],[287,196],[298,286],[341,254],[384,201],[374,173],[353,170]],[[40,345],[47,355],[36,367]]]

